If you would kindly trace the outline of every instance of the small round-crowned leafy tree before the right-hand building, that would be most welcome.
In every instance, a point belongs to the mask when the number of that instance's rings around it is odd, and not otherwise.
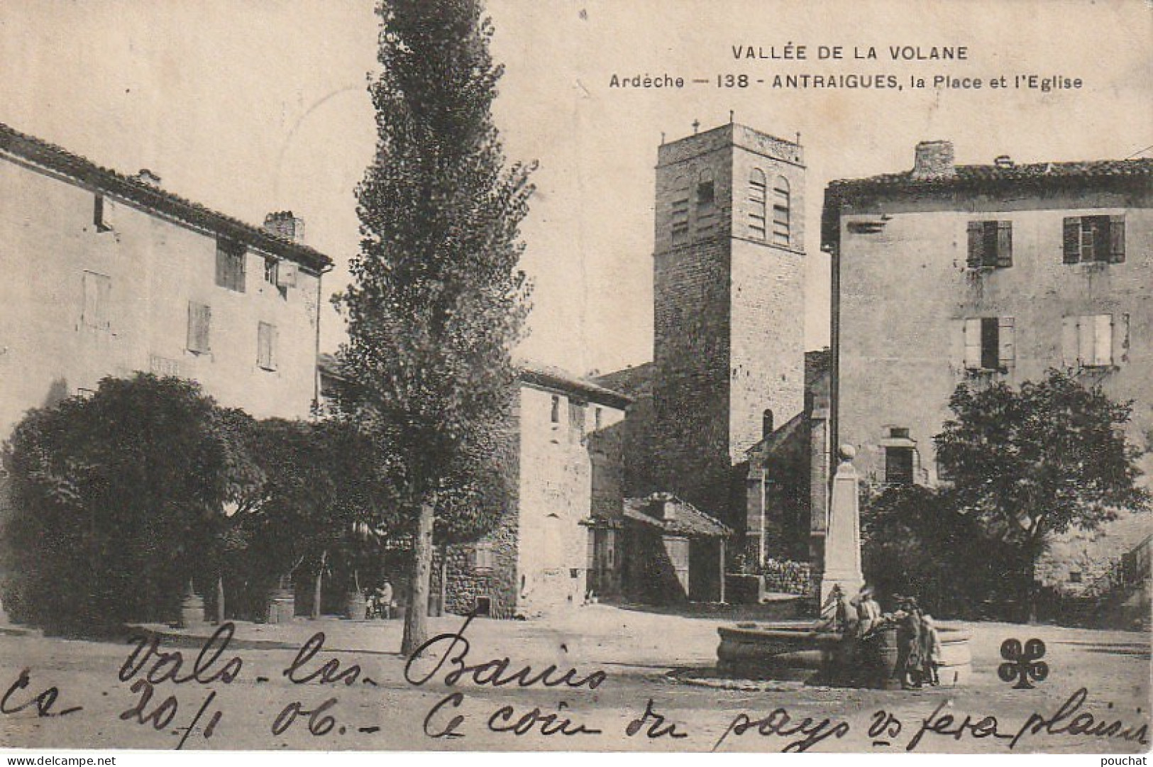
[[[1136,483],[1139,450],[1123,430],[1131,404],[1111,401],[1099,386],[1049,370],[1018,390],[962,383],[949,407],[954,418],[935,442],[952,503],[1016,549],[1030,595],[1052,535],[1097,529],[1122,507],[1148,507]]]

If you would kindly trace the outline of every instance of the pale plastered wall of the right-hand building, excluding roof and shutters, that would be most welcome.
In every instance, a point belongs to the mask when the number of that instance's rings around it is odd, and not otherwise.
[[[1062,262],[1067,216],[1125,216],[1124,263]],[[889,219],[876,231],[856,221]],[[971,220],[1012,221],[1012,265],[966,268]],[[949,418],[949,396],[969,374],[964,364],[966,317],[1012,317],[1016,361],[982,374],[1017,386],[1061,367],[1062,318],[1091,314],[1128,317],[1116,339],[1113,368],[1083,370],[1114,400],[1135,400],[1130,438],[1146,449],[1153,430],[1153,200],[1121,193],[1045,196],[974,193],[925,194],[858,201],[841,220],[839,441],[858,449],[867,481],[883,480],[891,427],[917,443],[917,478],[936,480],[933,436]],[[1120,323],[1118,323],[1120,325]]]

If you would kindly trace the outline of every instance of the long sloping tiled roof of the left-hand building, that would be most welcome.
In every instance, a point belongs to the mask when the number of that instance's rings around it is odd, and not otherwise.
[[[194,224],[244,245],[295,261],[316,271],[326,271],[332,260],[319,250],[293,242],[259,226],[217,212],[166,189],[161,189],[0,122],[0,152],[76,180],[80,185],[127,200],[146,210],[158,211]]]

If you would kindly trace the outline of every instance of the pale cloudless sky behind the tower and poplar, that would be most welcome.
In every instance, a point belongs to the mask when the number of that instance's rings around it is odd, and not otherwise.
[[[759,130],[800,134],[806,348],[828,344],[819,223],[829,180],[907,170],[922,140],[954,141],[963,164],[1153,151],[1145,0],[491,0],[488,12],[506,67],[493,108],[506,155],[540,163],[520,353],[578,374],[651,359],[656,151],[694,121],[708,129],[732,111]],[[338,264],[325,277],[333,293],[357,249],[354,189],[375,149],[376,40],[369,0],[6,0],[0,121],[121,172],[148,167],[167,189],[254,224],[294,211],[308,243]],[[771,58],[790,44],[805,58]],[[842,46],[842,58],[821,59],[820,46]],[[856,58],[871,46],[875,59]],[[894,61],[890,46],[966,52]],[[686,85],[610,87],[612,75],[666,74]],[[891,75],[902,88],[771,87],[789,74]],[[1082,87],[1011,87],[1027,74]],[[749,85],[718,87],[725,75]],[[933,88],[939,75],[984,83]],[[929,87],[913,88],[918,76]],[[1010,88],[989,87],[1000,76]],[[334,349],[336,313],[322,330]]]

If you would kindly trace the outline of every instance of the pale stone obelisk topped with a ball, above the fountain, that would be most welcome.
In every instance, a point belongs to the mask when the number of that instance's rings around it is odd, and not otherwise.
[[[821,604],[835,585],[853,595],[865,584],[861,574],[861,526],[859,478],[852,460],[857,450],[841,445],[841,464],[832,478],[829,526],[824,537],[824,572],[821,573]]]

